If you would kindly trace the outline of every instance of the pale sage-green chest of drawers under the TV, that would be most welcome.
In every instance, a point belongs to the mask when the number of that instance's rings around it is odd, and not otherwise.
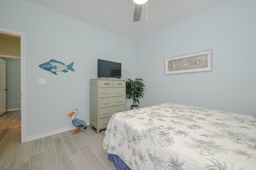
[[[90,127],[96,132],[108,126],[114,113],[125,111],[124,79],[90,79]]]

